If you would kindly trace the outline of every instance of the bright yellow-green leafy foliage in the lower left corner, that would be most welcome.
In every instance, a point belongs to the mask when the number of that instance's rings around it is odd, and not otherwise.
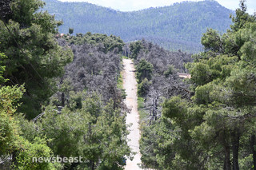
[[[14,154],[12,168],[17,169],[55,169],[59,164],[50,162],[36,163],[33,157],[50,157],[52,151],[46,144],[46,140],[35,137],[33,143],[21,136],[22,131],[19,126],[18,117],[14,113],[18,109],[18,100],[22,98],[24,87],[2,86],[0,89],[0,155],[10,156]],[[9,160],[10,161],[10,160]],[[9,167],[10,168],[10,167]]]

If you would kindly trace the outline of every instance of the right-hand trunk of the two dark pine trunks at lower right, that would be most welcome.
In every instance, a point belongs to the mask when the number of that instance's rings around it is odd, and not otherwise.
[[[233,170],[239,170],[239,164],[238,164],[239,139],[240,139],[239,132],[237,129],[235,129],[234,132],[231,132],[232,152],[233,152]]]

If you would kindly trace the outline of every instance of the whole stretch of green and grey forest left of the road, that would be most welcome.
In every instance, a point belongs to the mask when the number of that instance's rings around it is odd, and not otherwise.
[[[59,22],[34,13],[42,6],[1,2],[0,168],[122,169],[132,156],[118,85],[124,43],[104,34],[58,38]],[[33,162],[54,156],[82,162]]]

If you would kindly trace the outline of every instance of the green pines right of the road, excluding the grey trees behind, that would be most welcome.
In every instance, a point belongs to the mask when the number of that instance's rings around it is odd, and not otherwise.
[[[202,37],[205,51],[186,65],[194,92],[191,100],[171,97],[163,103],[162,119],[170,119],[170,125],[162,124],[165,130],[153,127],[150,134],[167,131],[172,136],[150,144],[154,148],[146,154],[152,162],[142,156],[149,167],[255,168],[256,22],[246,13],[244,1],[240,7],[231,30],[223,35],[208,30]],[[162,152],[166,144],[174,155]]]

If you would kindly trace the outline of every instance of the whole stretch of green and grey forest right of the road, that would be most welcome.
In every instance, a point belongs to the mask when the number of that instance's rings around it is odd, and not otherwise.
[[[191,78],[180,83],[175,72],[182,68],[166,67],[171,57],[137,48],[145,168],[256,169],[256,16],[241,1],[232,21],[225,34],[203,34],[204,51],[186,64]]]

